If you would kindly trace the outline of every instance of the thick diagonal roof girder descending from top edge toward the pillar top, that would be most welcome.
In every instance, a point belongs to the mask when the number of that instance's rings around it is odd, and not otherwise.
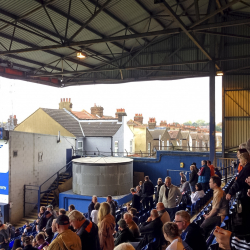
[[[185,24],[181,21],[181,19],[176,16],[172,8],[167,4],[166,1],[163,2],[166,7],[167,12],[171,15],[174,21],[179,25],[179,27],[184,31],[184,33],[192,40],[192,42],[201,50],[201,52],[210,60],[212,61],[213,58],[209,55],[209,53],[200,45],[198,40],[187,30]],[[219,69],[219,66],[216,65],[216,68]]]

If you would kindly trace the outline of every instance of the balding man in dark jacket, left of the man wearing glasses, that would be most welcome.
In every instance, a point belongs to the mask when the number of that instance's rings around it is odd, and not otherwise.
[[[144,236],[140,241],[139,245],[136,247],[137,250],[146,246],[149,242],[155,239],[154,249],[158,249],[161,246],[162,240],[162,222],[158,215],[156,209],[152,209],[150,212],[150,217],[146,222],[142,223],[140,226],[141,234]]]

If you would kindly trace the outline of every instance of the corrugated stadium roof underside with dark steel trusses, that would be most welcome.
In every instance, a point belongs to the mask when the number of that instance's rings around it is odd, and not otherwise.
[[[86,58],[77,58],[82,52]],[[51,86],[250,74],[249,0],[0,0],[0,76]]]

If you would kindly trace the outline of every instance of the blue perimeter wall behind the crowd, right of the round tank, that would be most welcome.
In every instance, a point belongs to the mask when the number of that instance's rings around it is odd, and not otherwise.
[[[221,154],[216,154],[216,157],[221,157]],[[201,167],[202,160],[209,160],[209,152],[176,152],[176,151],[157,151],[156,159],[150,158],[134,158],[134,172],[144,172],[150,180],[156,185],[157,179],[165,179],[171,175],[174,185],[180,184],[178,174],[173,174],[167,170],[190,171],[190,165],[196,162],[197,167]],[[180,163],[184,163],[184,168],[180,167]]]

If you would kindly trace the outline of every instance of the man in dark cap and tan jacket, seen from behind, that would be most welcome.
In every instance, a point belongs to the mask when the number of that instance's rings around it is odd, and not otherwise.
[[[48,250],[80,250],[82,243],[78,235],[69,229],[69,217],[60,215],[56,219],[56,229],[59,235],[51,242]]]

